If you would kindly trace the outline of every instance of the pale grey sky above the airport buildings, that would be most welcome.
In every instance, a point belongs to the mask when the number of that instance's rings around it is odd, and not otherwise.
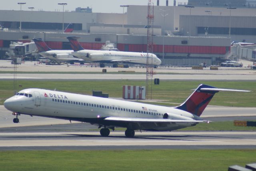
[[[152,0],[156,5],[157,0]],[[22,10],[30,10],[28,7],[34,7],[34,11],[42,9],[44,11],[62,11],[62,6],[58,3],[67,3],[64,10],[74,11],[76,7],[92,8],[92,12],[102,13],[122,13],[123,8],[120,5],[148,5],[148,0],[8,0],[0,5],[0,10],[20,10],[18,2],[26,2],[22,5]],[[187,0],[176,0],[178,2],[187,2]],[[165,6],[166,0],[160,0],[160,6]],[[173,0],[169,0],[169,6],[173,6]],[[126,11],[126,10],[125,10]]]

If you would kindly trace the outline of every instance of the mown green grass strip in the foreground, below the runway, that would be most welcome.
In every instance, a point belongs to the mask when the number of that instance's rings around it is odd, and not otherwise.
[[[250,150],[1,151],[1,171],[227,171],[255,162]]]

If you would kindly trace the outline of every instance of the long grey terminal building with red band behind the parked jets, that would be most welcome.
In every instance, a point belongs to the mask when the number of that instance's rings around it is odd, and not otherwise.
[[[167,0],[167,6],[157,6],[155,0],[153,53],[167,65],[210,65],[230,58],[231,42],[256,43],[253,2],[188,0],[169,6]],[[74,31],[64,34],[63,12],[0,10],[0,58],[11,41],[30,42],[32,38],[44,39],[52,49],[70,49],[67,36],[80,37],[86,49],[98,50],[110,41],[121,51],[146,52],[148,6],[126,8],[123,14],[94,13],[92,8],[66,11],[64,27],[73,23]]]

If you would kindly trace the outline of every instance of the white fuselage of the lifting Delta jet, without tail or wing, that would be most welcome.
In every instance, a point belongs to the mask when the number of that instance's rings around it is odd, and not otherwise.
[[[106,117],[199,120],[200,117],[173,107],[164,107],[117,99],[93,97],[46,89],[24,89],[4,102],[6,109],[15,113],[89,122],[113,127],[126,127],[120,123],[104,121]],[[170,131],[192,126],[192,123],[163,125],[134,125],[133,129]]]

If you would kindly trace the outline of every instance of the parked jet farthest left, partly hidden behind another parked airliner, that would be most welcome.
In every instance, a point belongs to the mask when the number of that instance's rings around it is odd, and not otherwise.
[[[84,60],[74,58],[74,56],[72,56],[71,53],[74,52],[73,50],[52,50],[41,38],[35,38],[32,40],[35,42],[39,54],[45,58],[57,63],[69,62],[70,64],[74,64],[74,62],[80,62],[81,65],[84,64]]]

